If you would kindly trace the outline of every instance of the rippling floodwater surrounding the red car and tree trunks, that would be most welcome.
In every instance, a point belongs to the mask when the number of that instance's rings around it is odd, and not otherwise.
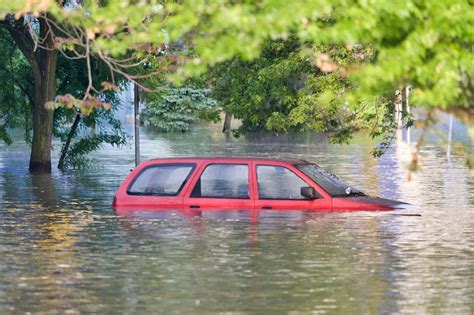
[[[0,144],[0,313],[474,312],[474,176],[455,147],[447,159],[446,146],[429,140],[408,181],[406,135],[375,159],[363,134],[339,146],[323,135],[235,139],[219,131],[143,133],[142,159],[304,158],[368,194],[412,203],[403,211],[421,216],[119,216],[110,205],[133,168],[131,147],[104,148],[94,170],[30,176],[18,136]],[[469,147],[465,131],[453,140]]]

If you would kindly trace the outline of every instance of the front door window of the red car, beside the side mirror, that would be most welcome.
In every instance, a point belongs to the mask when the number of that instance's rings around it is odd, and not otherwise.
[[[257,166],[258,196],[260,199],[306,199],[301,195],[301,187],[308,183],[282,166]]]

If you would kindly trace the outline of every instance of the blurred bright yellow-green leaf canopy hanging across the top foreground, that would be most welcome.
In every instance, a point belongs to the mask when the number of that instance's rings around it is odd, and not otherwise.
[[[75,30],[69,32],[73,38],[59,41],[60,49],[86,45],[106,60],[130,52],[139,59],[163,44],[186,39],[194,55],[177,62],[173,78],[178,79],[235,56],[255,58],[268,38],[286,39],[291,32],[303,42],[372,45],[376,56],[371,63],[344,68],[357,89],[337,97],[349,106],[359,107],[360,99],[375,99],[407,84],[413,86],[415,103],[472,106],[472,0],[71,3],[80,4],[64,8],[53,0],[4,0],[0,15],[48,11]]]

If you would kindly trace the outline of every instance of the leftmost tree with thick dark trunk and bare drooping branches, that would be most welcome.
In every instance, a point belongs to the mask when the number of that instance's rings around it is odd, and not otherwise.
[[[117,1],[111,3],[115,5],[115,9],[119,8]],[[77,108],[82,114],[87,115],[93,108],[107,108],[109,106],[102,102],[100,94],[115,86],[117,75],[129,79],[140,77],[132,74],[134,66],[137,65],[135,62],[138,56],[130,56],[130,54],[125,56],[124,51],[123,58],[115,59],[111,56],[101,55],[100,51],[95,51],[95,56],[107,65],[112,81],[112,83],[103,84],[102,89],[97,88],[92,77],[91,61],[93,58],[91,40],[95,38],[96,27],[92,27],[91,23],[85,25],[73,23],[72,20],[71,23],[64,20],[69,9],[72,11],[77,9],[81,12],[80,17],[83,17],[84,12],[88,10],[91,12],[95,9],[96,3],[85,2],[82,6],[76,8],[75,5],[77,5],[75,1],[19,1],[5,3],[5,5],[2,3],[2,8],[0,8],[0,15],[4,14],[3,19],[0,20],[0,28],[4,28],[9,32],[16,47],[28,61],[33,78],[33,138],[29,165],[29,170],[32,173],[51,172],[54,117],[54,111],[51,109],[63,105],[69,108]],[[111,6],[106,5],[106,7],[110,9]],[[147,6],[147,8],[151,7]],[[32,12],[30,12],[30,9]],[[12,11],[15,14],[10,13]],[[112,27],[114,25],[108,21],[107,30],[111,31]],[[120,31],[120,33],[123,36],[128,32]],[[105,33],[102,33],[102,35],[105,35]],[[65,51],[72,52],[72,55],[68,55]],[[82,59],[85,61],[88,84],[80,100],[74,97],[55,99],[57,94],[56,68],[59,53],[70,60]],[[124,69],[128,69],[128,71],[125,72]],[[5,128],[0,130],[1,134],[4,135]]]

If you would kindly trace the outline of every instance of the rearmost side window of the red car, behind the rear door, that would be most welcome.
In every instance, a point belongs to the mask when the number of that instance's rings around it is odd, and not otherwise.
[[[128,187],[129,195],[176,196],[186,184],[194,164],[163,164],[145,168]]]

